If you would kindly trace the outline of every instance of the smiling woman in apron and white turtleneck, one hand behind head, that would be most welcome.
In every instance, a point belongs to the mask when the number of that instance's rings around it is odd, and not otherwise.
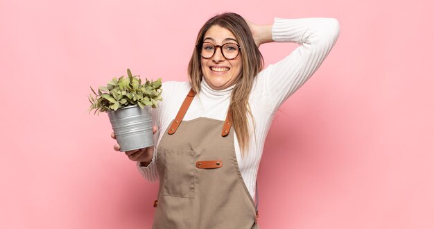
[[[333,18],[259,26],[224,13],[205,23],[189,83],[163,85],[164,102],[153,112],[155,148],[125,152],[146,179],[159,178],[153,228],[258,228],[253,197],[272,117],[339,33]],[[262,70],[258,46],[273,41],[302,46]]]

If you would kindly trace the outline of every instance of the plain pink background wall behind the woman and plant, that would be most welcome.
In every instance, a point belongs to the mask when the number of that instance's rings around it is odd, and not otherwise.
[[[430,1],[0,0],[0,228],[150,228],[157,183],[113,151],[89,85],[186,80],[200,26],[234,11],[336,17],[340,37],[275,117],[261,228],[434,228]],[[297,44],[264,44],[266,65]]]

